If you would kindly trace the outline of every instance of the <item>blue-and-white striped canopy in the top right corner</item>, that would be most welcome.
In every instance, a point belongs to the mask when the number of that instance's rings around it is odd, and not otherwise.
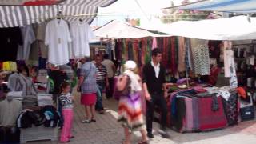
[[[256,0],[202,0],[185,6],[181,10],[221,11],[234,13],[255,13]]]

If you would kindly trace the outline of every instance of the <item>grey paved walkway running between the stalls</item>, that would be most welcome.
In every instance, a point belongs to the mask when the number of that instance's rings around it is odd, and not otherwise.
[[[122,143],[122,127],[116,122],[117,105],[115,100],[104,100],[106,114],[97,114],[97,122],[82,124],[83,108],[79,105],[79,97],[74,107],[74,139],[70,144],[119,144]],[[158,124],[154,123],[154,130],[158,130]],[[154,132],[155,138],[150,140],[151,144],[256,144],[256,121],[240,122],[238,126],[228,127],[223,130],[210,132],[180,134],[168,130],[171,138],[165,139]],[[133,134],[133,143],[139,141],[140,134]],[[41,141],[29,142],[34,144],[54,144],[58,142]]]

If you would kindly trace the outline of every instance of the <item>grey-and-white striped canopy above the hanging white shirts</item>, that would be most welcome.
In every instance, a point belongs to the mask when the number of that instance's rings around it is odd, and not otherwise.
[[[99,6],[109,6],[116,1],[65,0],[58,5],[50,6],[0,6],[0,27],[26,26],[44,22],[50,18],[56,18],[59,10],[62,10],[66,21],[71,22],[82,18],[90,23],[96,16]]]

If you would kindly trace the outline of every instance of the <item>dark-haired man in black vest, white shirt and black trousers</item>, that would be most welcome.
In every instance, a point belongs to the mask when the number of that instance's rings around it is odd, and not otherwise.
[[[162,52],[155,48],[152,50],[152,61],[148,62],[143,68],[143,88],[146,97],[146,130],[149,138],[154,138],[152,134],[152,122],[154,118],[154,106],[157,105],[161,110],[161,121],[159,134],[164,138],[169,138],[166,133],[166,69],[162,64]]]

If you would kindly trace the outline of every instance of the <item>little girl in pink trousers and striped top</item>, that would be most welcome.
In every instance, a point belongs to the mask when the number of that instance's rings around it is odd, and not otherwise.
[[[74,98],[70,94],[70,83],[63,82],[61,86],[61,95],[59,100],[62,105],[62,115],[64,118],[64,125],[62,127],[61,142],[70,142],[70,138],[74,138],[71,135],[72,121],[73,121],[73,102]]]

